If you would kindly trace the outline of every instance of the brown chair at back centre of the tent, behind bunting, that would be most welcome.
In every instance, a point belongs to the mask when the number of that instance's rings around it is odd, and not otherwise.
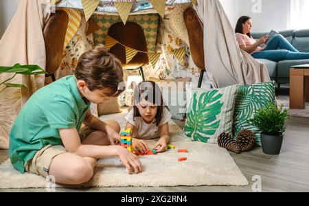
[[[119,43],[111,47],[109,52],[114,54],[122,62],[122,68],[126,70],[139,69],[141,77],[145,80],[142,66],[148,64],[148,52],[146,38],[143,28],[140,25],[133,22],[127,22],[126,25],[122,22],[111,25],[108,29],[108,36],[115,38]],[[123,46],[137,49],[138,52],[135,57],[126,63],[126,48]]]

